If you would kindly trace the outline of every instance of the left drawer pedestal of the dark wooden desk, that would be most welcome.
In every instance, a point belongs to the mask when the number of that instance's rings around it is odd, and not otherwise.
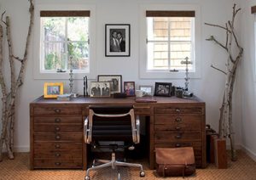
[[[31,169],[83,168],[82,106],[31,104]]]

